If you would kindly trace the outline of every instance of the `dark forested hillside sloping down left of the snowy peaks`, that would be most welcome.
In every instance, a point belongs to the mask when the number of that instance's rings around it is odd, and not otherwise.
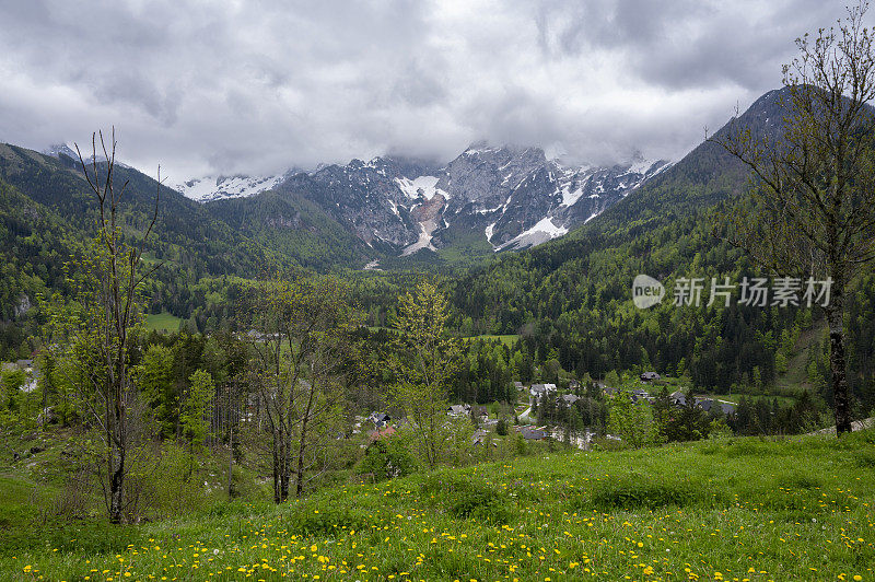
[[[100,173],[105,168],[98,163]],[[353,237],[306,200],[266,193],[253,211],[237,212],[233,200],[208,210],[137,170],[116,164],[114,176],[119,186],[127,183],[120,208],[130,235],[149,223],[159,197],[156,234],[143,257],[162,265],[143,288],[149,311],[191,318],[195,329],[211,316],[217,327],[217,315],[228,314],[229,305],[219,303],[233,296],[234,278],[291,267],[330,270],[364,258]],[[10,144],[0,146],[0,359],[15,359],[35,347],[26,341],[37,333],[30,306],[40,294],[67,291],[65,265],[92,238],[97,207],[78,160]]]

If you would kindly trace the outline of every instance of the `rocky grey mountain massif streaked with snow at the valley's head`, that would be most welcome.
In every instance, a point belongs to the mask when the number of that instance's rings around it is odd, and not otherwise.
[[[272,187],[313,200],[385,251],[435,251],[477,233],[498,252],[561,236],[669,166],[640,155],[608,167],[568,166],[539,148],[477,143],[444,166],[353,160],[287,174]]]

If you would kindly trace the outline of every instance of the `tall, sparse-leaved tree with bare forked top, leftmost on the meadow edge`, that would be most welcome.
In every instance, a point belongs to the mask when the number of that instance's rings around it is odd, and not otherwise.
[[[97,161],[100,140],[104,162]],[[115,184],[116,138],[109,144],[103,133],[92,136],[92,156],[85,163],[80,152],[82,172],[97,200],[97,236],[83,257],[77,278],[77,301],[56,311],[51,325],[61,334],[52,335],[67,349],[72,384],[80,396],[83,415],[97,428],[102,443],[101,484],[104,487],[109,521],[125,516],[125,479],[130,469],[131,420],[136,389],[131,351],[136,327],[141,322],[140,283],[160,265],[141,269],[145,240],[158,220],[161,174],[155,188],[155,206],[138,234],[122,233],[121,213],[126,182]],[[79,147],[77,146],[77,151]]]

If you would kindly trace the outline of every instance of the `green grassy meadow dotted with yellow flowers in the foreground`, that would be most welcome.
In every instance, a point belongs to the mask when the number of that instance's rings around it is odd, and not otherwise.
[[[0,578],[874,580],[874,441],[733,439],[442,469],[108,538],[45,532],[0,546]]]

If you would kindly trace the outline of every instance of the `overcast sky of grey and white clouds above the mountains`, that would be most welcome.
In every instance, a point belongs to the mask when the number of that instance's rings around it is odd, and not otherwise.
[[[0,141],[115,124],[120,158],[172,184],[480,139],[678,159],[843,5],[0,0]]]

